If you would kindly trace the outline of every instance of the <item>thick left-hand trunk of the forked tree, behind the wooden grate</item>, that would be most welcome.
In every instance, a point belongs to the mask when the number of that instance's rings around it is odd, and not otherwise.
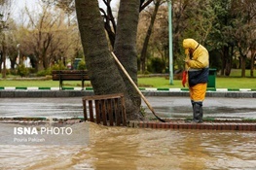
[[[109,51],[103,19],[98,9],[98,2],[76,0],[76,12],[82,45],[86,56],[86,64],[94,93],[100,95],[123,92],[126,97],[128,119],[139,119],[140,114],[137,106],[134,107],[133,99],[130,97],[132,95],[129,94],[133,90],[128,91],[128,87],[126,86],[128,83],[124,82],[118,66]],[[123,44],[129,42],[128,38],[130,38],[130,36],[132,37],[131,34],[133,33],[127,31],[126,34],[127,37],[123,40]],[[124,51],[127,50],[128,49],[124,49]],[[124,56],[128,56],[128,62],[125,63],[131,63],[129,60],[130,56],[135,55],[133,51],[131,53],[117,52],[117,55],[120,56],[120,53],[122,55],[124,54]],[[130,65],[132,65],[132,63]],[[126,64],[124,64],[124,66],[126,66]],[[130,69],[128,69],[128,73],[130,73]],[[132,78],[134,78],[134,74],[132,74]]]

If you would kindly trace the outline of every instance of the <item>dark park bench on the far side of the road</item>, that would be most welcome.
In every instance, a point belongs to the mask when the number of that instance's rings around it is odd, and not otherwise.
[[[90,81],[87,70],[53,70],[53,81],[59,81],[59,90],[63,89],[63,81],[82,81],[84,90],[85,81]]]

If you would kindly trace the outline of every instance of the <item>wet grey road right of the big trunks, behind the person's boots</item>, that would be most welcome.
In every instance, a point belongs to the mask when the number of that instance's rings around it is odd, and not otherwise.
[[[192,106],[189,97],[147,97],[156,113],[166,118],[191,118]],[[203,102],[203,117],[219,119],[256,119],[254,98],[214,98]],[[143,106],[146,105],[143,104]],[[146,110],[150,113],[150,110]]]

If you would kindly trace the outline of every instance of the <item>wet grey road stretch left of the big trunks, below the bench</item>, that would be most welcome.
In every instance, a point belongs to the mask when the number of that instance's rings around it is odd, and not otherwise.
[[[1,98],[0,118],[76,118],[82,98]]]

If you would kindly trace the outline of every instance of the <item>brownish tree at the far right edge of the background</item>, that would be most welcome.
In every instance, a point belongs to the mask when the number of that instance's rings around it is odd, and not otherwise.
[[[250,76],[253,77],[255,51],[256,51],[256,2],[254,0],[240,0],[233,4],[234,14],[237,18],[234,20],[236,30],[234,39],[237,42],[241,77],[245,77],[246,61],[250,59]]]

